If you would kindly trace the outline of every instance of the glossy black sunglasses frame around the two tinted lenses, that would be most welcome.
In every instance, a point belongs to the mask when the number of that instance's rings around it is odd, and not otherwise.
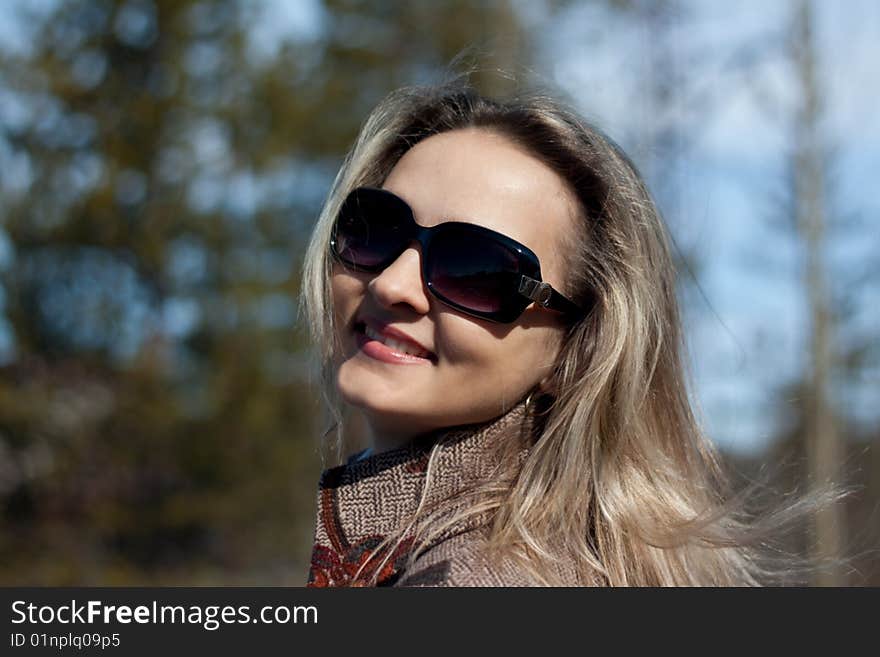
[[[387,262],[383,261],[382,263],[372,266],[359,265],[350,260],[346,260],[339,254],[337,249],[336,234],[339,219],[349,204],[360,202],[360,197],[362,195],[372,196],[374,199],[382,199],[383,203],[395,205],[399,210],[403,211],[401,213],[401,216],[404,216],[408,219],[406,225],[408,235],[406,236],[406,241],[402,242],[404,244],[403,248],[397,253],[393,254],[393,256],[389,256]],[[500,244],[502,247],[504,247],[512,255],[515,256],[517,261],[517,271],[511,273],[514,275],[519,274],[520,278],[518,280],[514,279],[511,291],[514,291],[515,289],[515,292],[520,295],[522,299],[521,304],[517,303],[515,304],[515,306],[496,311],[473,310],[471,308],[462,306],[460,303],[452,301],[434,287],[433,283],[428,280],[428,262],[431,259],[429,257],[431,242],[436,236],[448,233],[450,231],[454,231],[456,234],[459,235],[461,233],[470,233],[475,237],[489,239],[493,242]],[[446,221],[437,224],[436,226],[430,227],[421,226],[416,222],[412,208],[410,208],[409,204],[406,201],[404,201],[396,194],[386,189],[380,189],[378,187],[356,187],[351,192],[349,192],[348,196],[346,196],[345,200],[342,203],[342,206],[340,207],[339,214],[337,215],[336,220],[333,223],[332,233],[330,237],[330,253],[338,262],[340,262],[348,269],[352,269],[354,271],[377,273],[388,267],[388,265],[399,258],[400,254],[403,253],[403,251],[410,244],[412,244],[413,241],[418,242],[421,246],[422,281],[431,291],[431,294],[433,294],[434,297],[436,297],[444,304],[467,315],[471,315],[472,317],[477,317],[479,319],[497,322],[500,324],[509,324],[516,321],[519,316],[522,315],[523,312],[525,312],[526,308],[531,305],[532,302],[536,303],[542,308],[546,308],[547,310],[553,310],[572,317],[580,318],[583,317],[585,314],[585,311],[577,304],[564,297],[549,283],[541,280],[541,264],[538,260],[538,256],[535,255],[534,251],[529,249],[524,244],[520,244],[516,240],[508,237],[507,235],[491,230],[489,228],[485,228],[484,226],[478,226],[477,224],[471,224],[461,221]],[[506,305],[510,306],[510,304]]]

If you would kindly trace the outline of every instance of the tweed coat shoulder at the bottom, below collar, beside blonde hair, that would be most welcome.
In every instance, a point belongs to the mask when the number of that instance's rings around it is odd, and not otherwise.
[[[490,559],[479,532],[446,539],[419,555],[395,586],[540,586],[512,558]]]

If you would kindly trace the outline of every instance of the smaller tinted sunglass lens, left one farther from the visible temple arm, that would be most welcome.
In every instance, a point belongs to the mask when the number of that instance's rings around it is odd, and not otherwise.
[[[381,268],[393,260],[407,239],[406,209],[379,193],[354,193],[339,212],[335,251],[363,269]]]

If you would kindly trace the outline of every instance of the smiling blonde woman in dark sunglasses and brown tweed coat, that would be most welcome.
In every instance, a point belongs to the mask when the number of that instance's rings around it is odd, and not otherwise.
[[[310,585],[756,583],[658,211],[562,103],[392,93],[303,273],[330,408],[372,445],[322,475]]]

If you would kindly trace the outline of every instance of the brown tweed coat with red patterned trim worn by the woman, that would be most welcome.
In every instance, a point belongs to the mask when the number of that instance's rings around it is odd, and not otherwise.
[[[497,441],[516,440],[522,446],[520,459],[528,455],[532,427],[533,419],[520,402],[487,423],[434,432],[406,446],[325,470],[319,484],[308,586],[366,586],[373,575],[379,586],[535,585],[512,560],[489,559],[481,552],[485,522],[479,518],[444,530],[409,568],[412,537],[405,536],[396,548],[395,543],[380,545],[416,511],[434,443],[440,442],[441,449],[424,503],[451,513],[467,504],[464,493],[491,475]],[[573,569],[563,568],[560,574],[566,582],[578,583]]]

